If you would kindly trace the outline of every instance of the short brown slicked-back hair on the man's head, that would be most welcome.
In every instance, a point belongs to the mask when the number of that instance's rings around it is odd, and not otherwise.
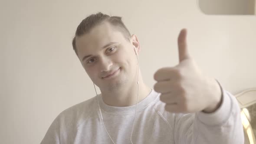
[[[75,46],[75,38],[82,36],[86,33],[89,33],[89,31],[92,28],[94,28],[95,26],[105,21],[115,26],[117,30],[124,35],[125,39],[129,41],[131,34],[121,19],[122,18],[120,16],[108,16],[106,14],[99,12],[96,14],[92,14],[86,17],[84,20],[82,20],[82,22],[79,24],[79,26],[75,31],[75,37],[73,38],[73,41],[72,41],[72,46],[75,51],[75,54],[78,56],[77,49]]]

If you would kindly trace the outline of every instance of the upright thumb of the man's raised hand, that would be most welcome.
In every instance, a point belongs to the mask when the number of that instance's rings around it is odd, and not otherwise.
[[[178,51],[180,62],[184,59],[189,59],[189,53],[187,49],[187,29],[181,29],[178,37]]]

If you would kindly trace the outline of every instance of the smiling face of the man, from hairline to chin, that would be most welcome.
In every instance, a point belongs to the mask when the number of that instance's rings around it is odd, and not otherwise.
[[[76,47],[85,71],[101,90],[115,91],[135,80],[137,58],[132,42],[109,23],[78,37]]]

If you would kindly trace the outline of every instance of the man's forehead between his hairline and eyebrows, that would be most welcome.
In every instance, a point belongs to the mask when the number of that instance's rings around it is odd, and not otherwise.
[[[121,32],[109,23],[102,23],[92,28],[89,33],[76,38],[76,48],[78,54],[101,49],[110,42],[123,43],[125,37]]]

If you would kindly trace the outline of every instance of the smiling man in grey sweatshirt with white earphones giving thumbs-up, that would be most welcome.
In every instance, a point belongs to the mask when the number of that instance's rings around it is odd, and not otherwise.
[[[200,72],[186,36],[182,29],[179,64],[159,69],[152,89],[138,66],[138,38],[121,17],[82,20],[73,49],[101,94],[62,111],[41,144],[243,144],[236,99]]]

